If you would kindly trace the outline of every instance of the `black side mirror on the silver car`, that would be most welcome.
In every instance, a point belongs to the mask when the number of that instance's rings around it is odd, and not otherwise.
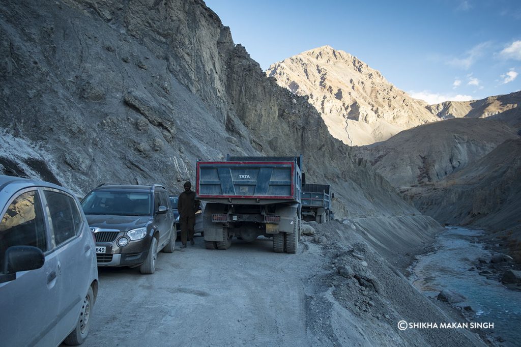
[[[4,255],[0,283],[16,279],[16,272],[39,269],[45,263],[41,249],[33,246],[10,246]]]

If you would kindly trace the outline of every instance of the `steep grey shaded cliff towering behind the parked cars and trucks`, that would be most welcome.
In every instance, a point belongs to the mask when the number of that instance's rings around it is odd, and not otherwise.
[[[79,196],[101,182],[173,193],[198,158],[303,154],[308,181],[336,192],[337,216],[418,213],[203,1],[5,1],[0,46],[0,172]]]

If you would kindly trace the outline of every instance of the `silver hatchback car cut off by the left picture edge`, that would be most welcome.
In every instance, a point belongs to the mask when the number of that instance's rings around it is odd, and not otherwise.
[[[58,185],[0,175],[0,344],[81,344],[98,274],[78,199]]]

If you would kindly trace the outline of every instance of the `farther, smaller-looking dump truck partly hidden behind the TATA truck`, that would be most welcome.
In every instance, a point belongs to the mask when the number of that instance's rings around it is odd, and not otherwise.
[[[329,184],[302,185],[302,218],[305,221],[316,221],[324,223],[333,219],[331,210],[331,197]]]

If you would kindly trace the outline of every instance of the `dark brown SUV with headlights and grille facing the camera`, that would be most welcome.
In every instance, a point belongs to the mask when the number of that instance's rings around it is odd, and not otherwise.
[[[81,206],[98,266],[140,266],[142,274],[153,274],[157,253],[175,248],[173,209],[162,185],[101,185]]]

